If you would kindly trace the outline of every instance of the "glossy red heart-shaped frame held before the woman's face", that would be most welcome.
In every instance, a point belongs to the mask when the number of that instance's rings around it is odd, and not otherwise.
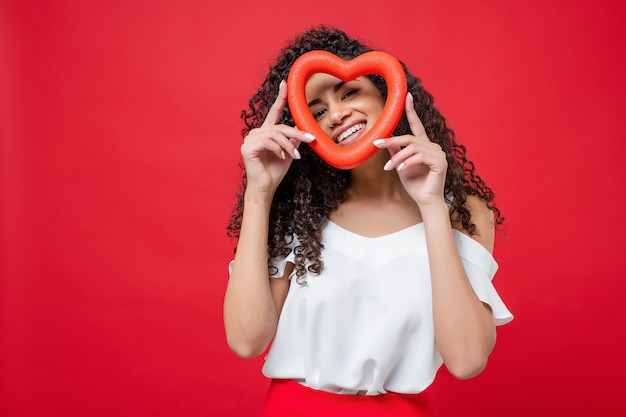
[[[387,83],[387,101],[380,118],[356,143],[340,146],[320,128],[306,101],[306,83],[315,73],[326,73],[350,81],[355,78],[378,74]],[[391,136],[395,130],[406,98],[406,76],[400,62],[382,51],[370,51],[352,60],[344,60],[326,51],[310,51],[293,63],[287,78],[288,104],[298,129],[315,135],[317,140],[310,146],[326,162],[335,168],[351,169],[374,155],[378,148],[372,142]]]

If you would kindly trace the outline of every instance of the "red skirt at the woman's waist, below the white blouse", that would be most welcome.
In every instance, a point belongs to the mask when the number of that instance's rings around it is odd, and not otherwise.
[[[424,394],[347,395],[273,379],[261,417],[426,417]]]

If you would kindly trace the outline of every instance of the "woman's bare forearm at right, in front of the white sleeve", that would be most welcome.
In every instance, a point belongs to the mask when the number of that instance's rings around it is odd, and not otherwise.
[[[445,202],[421,208],[432,279],[435,340],[459,378],[484,368],[495,344],[491,313],[472,289],[454,241]]]

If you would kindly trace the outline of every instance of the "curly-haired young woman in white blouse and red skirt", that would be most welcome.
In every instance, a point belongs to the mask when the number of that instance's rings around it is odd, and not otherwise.
[[[242,112],[228,344],[246,358],[271,344],[264,416],[427,415],[421,393],[439,367],[477,375],[495,326],[513,318],[491,283],[503,219],[404,64],[409,93],[393,136],[351,170],[324,162],[286,106],[291,65],[311,50],[352,59],[370,49],[332,27],[305,31]],[[386,94],[377,75],[315,74],[306,84],[315,120],[340,146],[371,129]]]

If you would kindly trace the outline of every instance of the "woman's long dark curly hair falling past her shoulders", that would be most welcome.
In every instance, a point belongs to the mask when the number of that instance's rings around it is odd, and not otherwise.
[[[327,25],[301,33],[280,51],[276,63],[270,67],[261,87],[250,99],[248,108],[241,112],[241,118],[245,123],[241,130],[242,137],[263,124],[271,105],[276,100],[279,84],[287,79],[294,61],[300,55],[313,50],[324,50],[343,59],[353,59],[372,49],[345,32]],[[415,110],[428,138],[438,143],[446,153],[448,171],[445,194],[446,198],[451,197],[451,201],[448,201],[451,204],[451,218],[454,222],[460,223],[469,234],[475,234],[476,226],[471,222],[471,213],[466,202],[468,195],[476,195],[494,212],[496,225],[501,224],[504,218],[493,204],[495,195],[475,173],[474,164],[466,156],[465,146],[456,142],[454,131],[448,127],[446,119],[435,108],[434,99],[424,90],[421,80],[411,74],[403,62],[400,63],[406,73],[407,89],[413,95]],[[387,87],[384,79],[379,75],[368,77],[386,99]],[[279,123],[294,126],[288,106],[285,106]],[[410,127],[406,115],[403,115],[394,135],[407,133],[410,133]],[[319,273],[323,268],[322,228],[329,214],[344,200],[344,191],[350,185],[350,171],[330,166],[309,146],[300,146],[299,150],[302,159],[291,164],[274,195],[267,243],[268,267],[270,273],[275,274],[277,270],[272,266],[273,261],[289,255],[292,250],[290,245],[297,236],[299,244],[293,248],[295,273],[297,281],[302,284],[306,283],[304,277],[307,271]],[[243,169],[242,161],[240,166]],[[227,235],[235,240],[238,240],[241,231],[245,188],[244,171],[237,203],[227,227]]]

